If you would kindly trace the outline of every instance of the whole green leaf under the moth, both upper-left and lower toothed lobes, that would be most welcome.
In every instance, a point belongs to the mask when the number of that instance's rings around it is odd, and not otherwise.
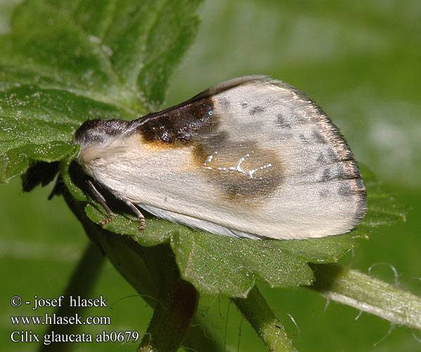
[[[30,161],[60,161],[72,196],[87,201],[67,169],[77,154],[72,135],[86,118],[135,118],[162,102],[169,75],[191,42],[200,1],[26,1],[1,37],[0,180],[22,175]],[[98,13],[89,14],[86,6]],[[93,25],[93,18],[98,26]],[[144,100],[142,100],[144,99]],[[147,103],[145,103],[147,102]],[[195,232],[164,220],[146,230],[125,208],[105,226],[143,246],[170,241],[183,278],[205,294],[245,297],[256,279],[272,287],[313,282],[308,263],[332,263],[403,209],[364,172],[369,210],[356,230],[309,240],[252,241]],[[113,209],[114,210],[114,209]],[[86,215],[98,223],[103,208]]]

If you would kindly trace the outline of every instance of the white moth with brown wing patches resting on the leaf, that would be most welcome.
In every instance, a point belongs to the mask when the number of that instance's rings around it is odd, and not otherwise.
[[[309,239],[352,230],[365,185],[338,128],[304,92],[238,77],[136,120],[88,120],[77,162],[101,187],[158,218],[214,234]],[[112,219],[101,193],[95,198]]]

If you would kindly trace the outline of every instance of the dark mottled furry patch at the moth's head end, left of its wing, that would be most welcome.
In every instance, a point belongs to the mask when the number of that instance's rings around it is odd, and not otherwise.
[[[123,120],[87,120],[75,132],[73,142],[81,149],[88,146],[101,146],[110,142],[127,130],[129,122]]]

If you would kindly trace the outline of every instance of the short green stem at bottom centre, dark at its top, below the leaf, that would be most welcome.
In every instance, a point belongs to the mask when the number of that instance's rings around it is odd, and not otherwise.
[[[287,337],[285,329],[275,317],[268,303],[257,287],[248,294],[247,298],[231,298],[242,315],[250,322],[269,351],[294,352],[292,341]]]

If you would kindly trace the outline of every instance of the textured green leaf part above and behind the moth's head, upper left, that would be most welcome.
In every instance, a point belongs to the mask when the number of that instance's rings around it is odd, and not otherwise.
[[[200,2],[20,4],[12,32],[0,37],[0,182],[31,161],[70,155],[84,120],[157,108],[195,36]]]

